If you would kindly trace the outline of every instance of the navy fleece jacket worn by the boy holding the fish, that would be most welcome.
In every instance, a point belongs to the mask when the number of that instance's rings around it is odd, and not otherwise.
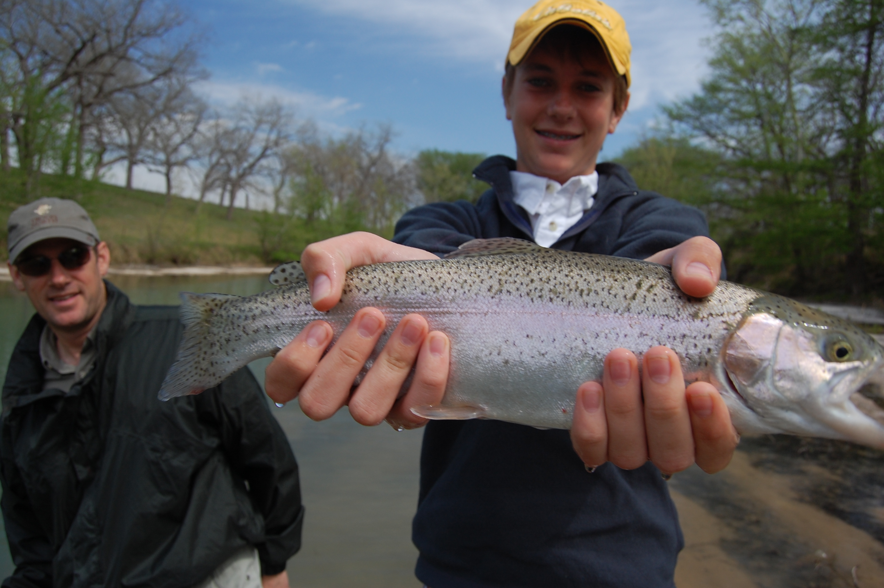
[[[490,157],[474,206],[438,202],[406,213],[393,241],[444,254],[471,239],[532,240],[513,202],[515,162]],[[617,164],[598,164],[592,208],[553,248],[642,259],[697,235],[703,214],[639,190]],[[575,391],[576,393],[576,391]],[[568,431],[499,421],[434,421],[421,455],[413,540],[431,588],[670,588],[682,532],[666,482],[650,463],[587,473]]]

